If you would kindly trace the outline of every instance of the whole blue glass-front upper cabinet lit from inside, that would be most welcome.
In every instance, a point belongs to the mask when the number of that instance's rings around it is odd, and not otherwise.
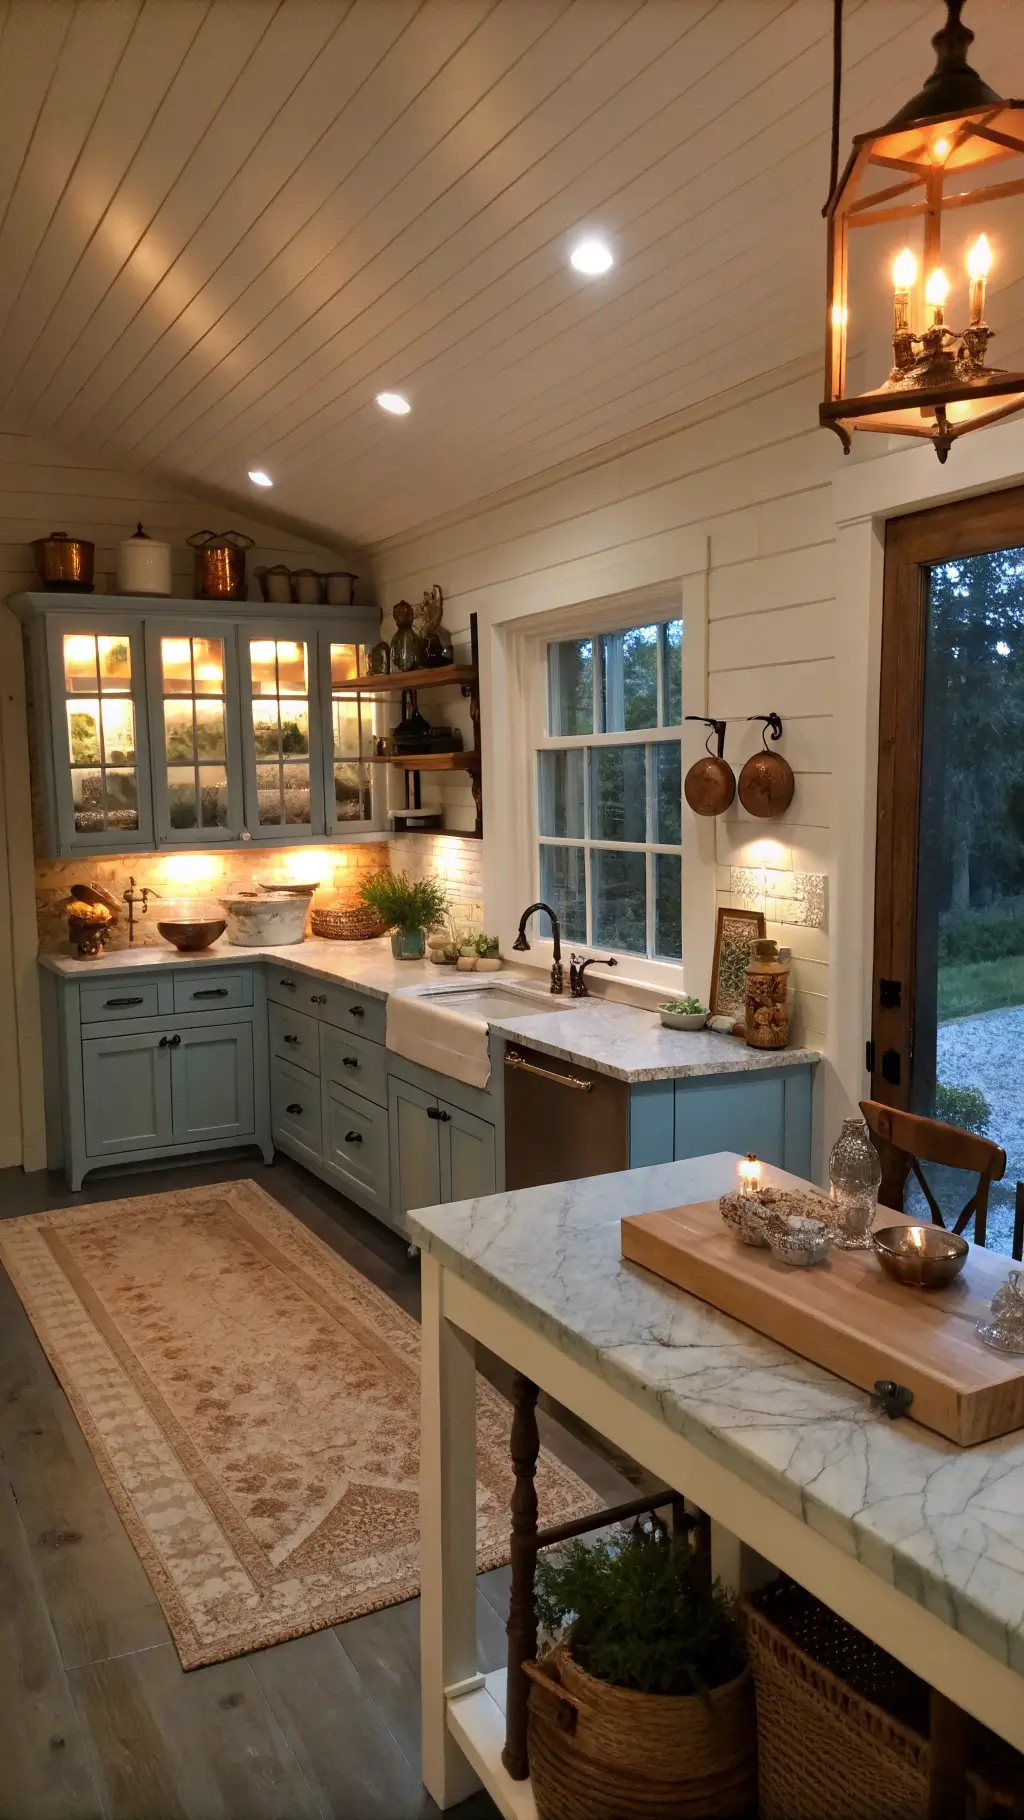
[[[382,826],[373,608],[24,593],[47,857],[296,844]]]

